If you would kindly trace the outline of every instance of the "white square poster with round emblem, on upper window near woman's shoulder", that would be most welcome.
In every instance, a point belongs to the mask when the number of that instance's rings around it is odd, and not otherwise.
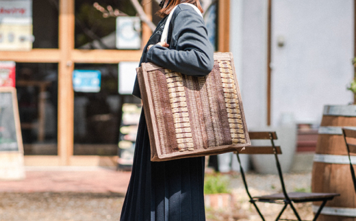
[[[135,16],[116,18],[116,49],[140,49],[141,21]]]

